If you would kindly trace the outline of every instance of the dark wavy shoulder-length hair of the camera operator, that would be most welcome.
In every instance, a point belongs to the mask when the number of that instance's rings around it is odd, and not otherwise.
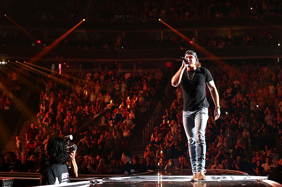
[[[50,162],[52,164],[63,165],[68,161],[66,143],[61,137],[50,138],[47,143],[46,151],[50,156]]]

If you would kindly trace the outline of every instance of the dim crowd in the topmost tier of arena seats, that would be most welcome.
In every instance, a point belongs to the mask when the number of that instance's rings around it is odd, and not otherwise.
[[[44,5],[44,6],[43,6]],[[244,6],[249,6],[247,12]],[[99,22],[148,22],[179,21],[191,19],[226,19],[245,17],[247,13],[252,16],[275,16],[281,15],[281,3],[279,1],[101,1],[89,6],[86,1],[54,2],[43,1],[36,5],[22,9],[21,1],[14,1],[12,17],[25,19],[39,19],[52,21],[72,21],[86,18],[89,21]],[[62,11],[64,7],[64,11]],[[116,7],[119,7],[118,9]],[[94,10],[91,13],[79,10]],[[88,12],[88,11],[87,11]],[[21,17],[21,18],[22,18]]]

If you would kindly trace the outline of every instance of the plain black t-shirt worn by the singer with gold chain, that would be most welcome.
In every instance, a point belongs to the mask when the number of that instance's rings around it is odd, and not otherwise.
[[[193,73],[194,71],[188,71],[189,76],[192,76]],[[205,88],[206,82],[212,80],[212,75],[206,68],[197,68],[192,80],[188,79],[187,71],[184,70],[180,82],[184,111],[195,111],[202,107],[209,107]]]

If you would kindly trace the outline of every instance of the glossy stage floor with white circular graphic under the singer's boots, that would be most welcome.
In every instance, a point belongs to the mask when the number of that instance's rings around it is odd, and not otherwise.
[[[155,170],[145,175],[128,177],[107,177],[95,186],[97,187],[210,187],[210,186],[273,186],[263,182],[266,176],[249,176],[244,172],[228,170],[207,170],[206,181],[190,182],[191,170]]]

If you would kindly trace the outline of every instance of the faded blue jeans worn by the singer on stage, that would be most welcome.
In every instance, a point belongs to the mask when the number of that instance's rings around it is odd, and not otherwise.
[[[188,139],[192,172],[205,172],[206,141],[208,109],[203,107],[196,111],[183,111],[183,125]]]

